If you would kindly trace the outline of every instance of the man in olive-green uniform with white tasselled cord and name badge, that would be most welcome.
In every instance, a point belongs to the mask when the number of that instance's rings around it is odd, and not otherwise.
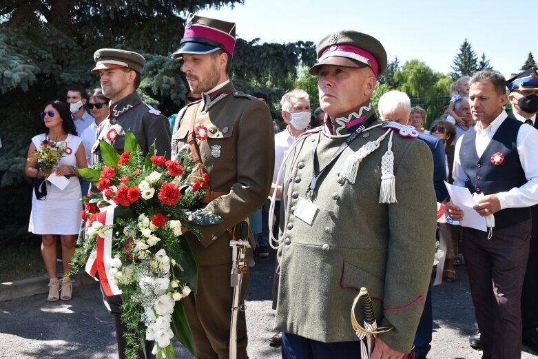
[[[414,129],[377,121],[371,94],[385,68],[382,44],[367,34],[335,32],[318,45],[310,73],[328,117],[284,161],[282,358],[360,358],[350,313],[361,287],[379,325],[393,328],[377,336],[371,358],[411,351],[435,252],[433,161],[408,138]]]

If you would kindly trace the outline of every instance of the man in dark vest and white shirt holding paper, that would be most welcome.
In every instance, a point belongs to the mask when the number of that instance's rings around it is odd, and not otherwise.
[[[481,332],[482,358],[521,357],[521,288],[529,253],[530,206],[538,203],[538,131],[503,110],[506,80],[493,70],[470,80],[474,130],[455,148],[454,184],[479,197],[488,231],[464,227],[463,253]],[[453,220],[464,212],[447,204]]]

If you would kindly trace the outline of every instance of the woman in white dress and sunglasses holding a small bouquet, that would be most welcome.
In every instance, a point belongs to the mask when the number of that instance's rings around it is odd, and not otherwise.
[[[52,172],[56,176],[68,179],[68,184],[50,183],[53,178],[45,181],[47,194],[38,199],[34,191],[32,197],[32,213],[28,231],[41,234],[41,254],[50,278],[48,300],[70,300],[72,283],[70,278],[59,280],[56,276],[56,235],[60,236],[62,248],[63,273],[71,270],[71,258],[76,245],[76,236],[81,224],[81,186],[78,168],[87,167],[84,146],[76,136],[76,129],[71,117],[69,105],[60,101],[52,101],[45,105],[41,114],[47,130],[32,138],[28,149],[28,161],[25,174],[29,177],[48,178],[50,173],[43,172],[35,154],[44,140],[58,143],[63,147],[63,155]],[[61,286],[61,289],[60,289]],[[60,294],[61,290],[61,294]]]

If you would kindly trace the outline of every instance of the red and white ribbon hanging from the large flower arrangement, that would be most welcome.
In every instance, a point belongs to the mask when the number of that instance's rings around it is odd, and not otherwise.
[[[97,220],[105,226],[112,226],[114,224],[115,208],[116,206],[110,206],[107,209],[101,209]],[[96,243],[96,249],[92,251],[92,254],[87,259],[86,273],[101,282],[101,287],[103,287],[103,292],[106,296],[121,294],[121,289],[113,284],[112,278],[109,276],[110,269],[112,268],[110,265],[110,261],[112,260],[112,229],[106,231],[105,238],[98,235]],[[96,278],[98,274],[99,278]]]

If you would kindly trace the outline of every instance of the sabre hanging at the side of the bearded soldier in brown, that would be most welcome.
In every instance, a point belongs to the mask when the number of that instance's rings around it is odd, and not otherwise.
[[[249,244],[249,223],[243,220],[239,223],[238,239],[231,238],[231,280],[230,285],[234,287],[234,300],[231,303],[231,320],[230,320],[230,359],[237,358],[237,317],[239,311],[245,311],[245,304],[239,305],[241,296],[241,285],[243,274],[249,270],[245,260],[245,252],[250,248]]]

